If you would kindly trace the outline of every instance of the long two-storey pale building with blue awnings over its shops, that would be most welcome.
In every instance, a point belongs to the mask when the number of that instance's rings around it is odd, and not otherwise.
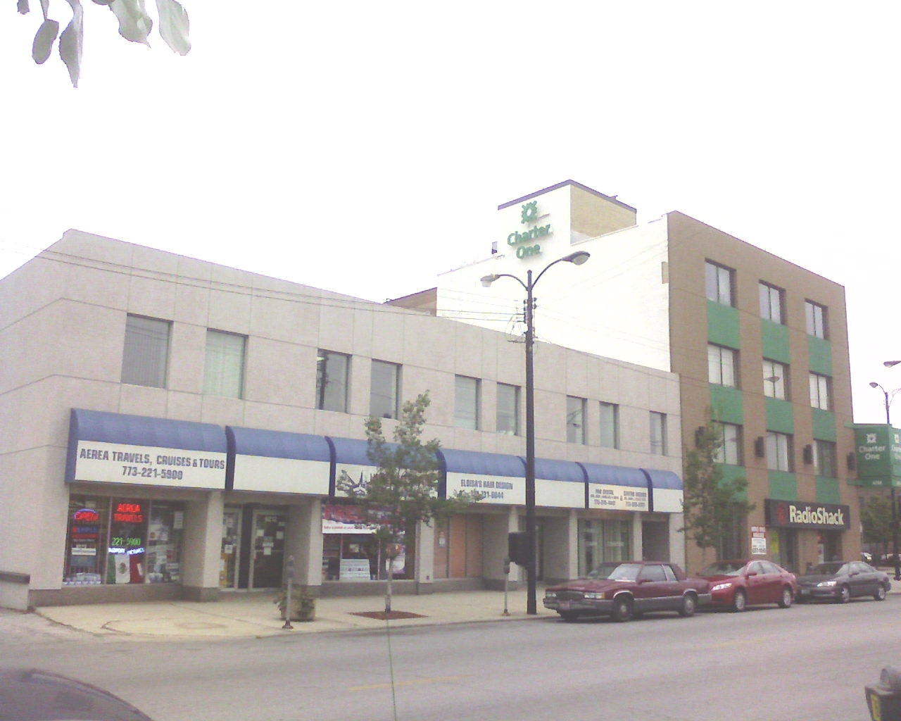
[[[563,265],[542,293],[578,285]],[[288,572],[323,595],[382,592],[387,571],[336,479],[372,472],[370,415],[390,437],[425,392],[441,493],[485,497],[416,529],[396,592],[502,588],[524,513],[523,345],[510,340],[68,231],[0,280],[0,605],[213,600]],[[538,343],[540,580],[684,561],[678,379],[651,355]]]

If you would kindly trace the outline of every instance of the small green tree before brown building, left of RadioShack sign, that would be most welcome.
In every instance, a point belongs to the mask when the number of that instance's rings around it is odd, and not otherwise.
[[[685,453],[684,525],[678,530],[701,549],[702,566],[706,565],[707,549],[722,548],[735,518],[747,516],[754,508],[744,499],[746,479],[723,479],[723,468],[718,462],[722,447],[721,426],[708,420],[697,431],[696,448]]]

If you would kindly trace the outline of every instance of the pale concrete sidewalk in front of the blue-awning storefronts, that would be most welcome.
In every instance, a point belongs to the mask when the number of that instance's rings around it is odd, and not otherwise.
[[[542,606],[543,589],[537,598],[538,613],[526,614],[525,589],[507,594],[504,615],[503,591],[453,591],[424,596],[395,596],[390,626],[471,623],[478,621],[534,620],[556,617]],[[316,618],[310,623],[292,622],[285,629],[276,591],[222,594],[209,603],[195,601],[145,601],[130,604],[39,607],[35,613],[50,621],[96,636],[132,640],[177,638],[259,638],[282,634],[311,634],[384,628],[386,621],[359,614],[385,610],[384,596],[317,598]]]

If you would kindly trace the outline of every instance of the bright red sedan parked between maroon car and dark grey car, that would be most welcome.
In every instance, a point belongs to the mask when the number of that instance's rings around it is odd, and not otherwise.
[[[787,608],[797,593],[795,574],[764,559],[716,561],[698,575],[710,581],[711,606],[733,611],[766,603]]]

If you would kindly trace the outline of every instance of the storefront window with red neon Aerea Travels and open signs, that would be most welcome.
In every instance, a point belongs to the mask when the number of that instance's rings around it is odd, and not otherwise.
[[[177,583],[183,504],[72,496],[63,585]]]

